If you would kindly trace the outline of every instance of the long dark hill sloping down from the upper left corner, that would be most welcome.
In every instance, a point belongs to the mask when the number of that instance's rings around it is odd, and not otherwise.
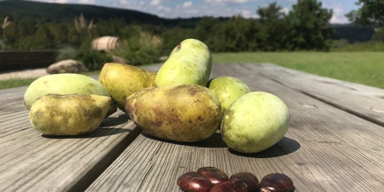
[[[136,10],[108,8],[94,5],[41,3],[21,0],[0,1],[0,17],[6,15],[16,20],[22,16],[46,21],[71,20],[80,13],[87,19],[119,18],[129,24],[156,24],[164,26],[194,27],[200,18],[166,19]]]

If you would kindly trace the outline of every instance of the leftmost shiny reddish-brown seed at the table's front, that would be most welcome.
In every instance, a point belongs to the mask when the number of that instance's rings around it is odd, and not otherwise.
[[[188,192],[205,192],[212,188],[212,183],[197,172],[188,172],[179,177],[177,185]]]

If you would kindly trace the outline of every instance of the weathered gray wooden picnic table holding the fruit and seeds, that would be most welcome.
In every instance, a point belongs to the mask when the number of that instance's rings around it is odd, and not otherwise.
[[[295,191],[384,190],[384,90],[271,64],[214,65],[211,77],[222,75],[288,105],[281,141],[257,154],[228,149],[219,131],[172,142],[142,134],[121,111],[92,134],[48,137],[29,122],[26,87],[1,90],[0,191],[181,191],[177,178],[203,166],[259,180],[284,173]]]

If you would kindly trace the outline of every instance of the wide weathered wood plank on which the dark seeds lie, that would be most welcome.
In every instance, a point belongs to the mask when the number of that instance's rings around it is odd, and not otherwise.
[[[87,191],[177,191],[177,178],[202,166],[229,175],[248,171],[292,178],[296,191],[379,191],[384,187],[382,127],[267,79],[249,66],[214,66],[211,76],[230,75],[253,91],[282,98],[291,112],[284,139],[245,155],[228,150],[220,134],[196,143],[140,135]]]

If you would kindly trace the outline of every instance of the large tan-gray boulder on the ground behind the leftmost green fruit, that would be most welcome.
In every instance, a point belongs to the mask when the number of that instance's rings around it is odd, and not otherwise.
[[[55,62],[47,68],[47,73],[82,73],[89,69],[81,62],[73,59],[61,60]]]

